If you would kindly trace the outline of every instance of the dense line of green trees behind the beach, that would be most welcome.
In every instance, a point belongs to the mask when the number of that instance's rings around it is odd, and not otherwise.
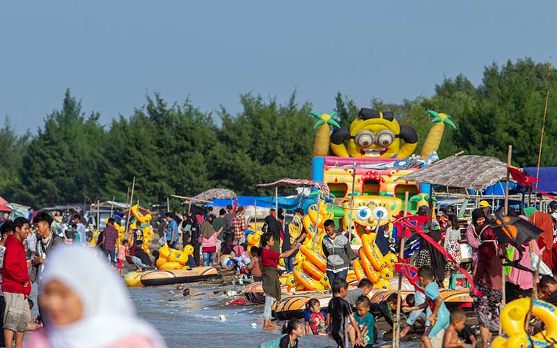
[[[0,195],[33,207],[125,201],[134,176],[134,197],[142,205],[213,187],[269,194],[256,184],[311,176],[310,111],[336,111],[340,123],[350,125],[363,106],[394,111],[401,124],[413,126],[420,139],[416,152],[430,129],[425,110],[433,109],[450,114],[457,125],[446,128],[441,157],[464,150],[504,160],[511,144],[514,165],[535,166],[548,88],[541,165],[557,166],[556,75],[553,70],[548,77],[546,64],[526,58],[485,67],[478,86],[460,74],[437,84],[432,97],[399,104],[372,97],[369,105],[356,105],[339,92],[334,110],[313,110],[295,93],[284,104],[249,93],[240,96],[236,115],[222,106],[203,112],[189,99],[169,104],[155,93],[106,127],[99,113],[86,113],[66,90],[61,109],[47,115],[36,135],[18,135],[6,118],[0,128]]]

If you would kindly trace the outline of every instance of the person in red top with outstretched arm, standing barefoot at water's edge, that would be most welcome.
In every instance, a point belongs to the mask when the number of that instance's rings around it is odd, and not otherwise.
[[[281,299],[281,282],[278,280],[277,262],[279,258],[288,258],[288,256],[292,255],[299,248],[300,244],[296,243],[289,251],[278,253],[271,250],[275,244],[272,234],[263,233],[260,241],[263,246],[261,250],[261,264],[263,266],[262,285],[263,291],[266,294],[265,308],[263,308],[263,330],[275,330],[278,329],[278,326],[271,322],[271,308],[274,301],[280,301]]]

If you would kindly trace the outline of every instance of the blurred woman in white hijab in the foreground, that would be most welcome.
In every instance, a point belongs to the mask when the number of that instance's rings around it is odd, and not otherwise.
[[[106,258],[93,248],[59,246],[42,274],[39,304],[45,330],[31,348],[166,348],[136,317],[134,303]]]

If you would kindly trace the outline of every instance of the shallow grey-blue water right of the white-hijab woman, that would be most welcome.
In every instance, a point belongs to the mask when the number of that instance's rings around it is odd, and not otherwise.
[[[262,306],[224,304],[241,297],[223,294],[230,286],[195,283],[187,287],[191,290],[189,296],[182,296],[175,285],[130,288],[139,316],[155,325],[168,347],[258,347],[261,342],[278,337],[278,331],[262,331]],[[214,289],[221,292],[213,294]],[[225,315],[226,322],[220,322],[219,315]],[[257,328],[252,328],[251,323],[257,323]],[[334,348],[336,345],[327,336],[310,335],[299,340],[299,347]],[[407,342],[401,347],[418,347],[418,344]]]

